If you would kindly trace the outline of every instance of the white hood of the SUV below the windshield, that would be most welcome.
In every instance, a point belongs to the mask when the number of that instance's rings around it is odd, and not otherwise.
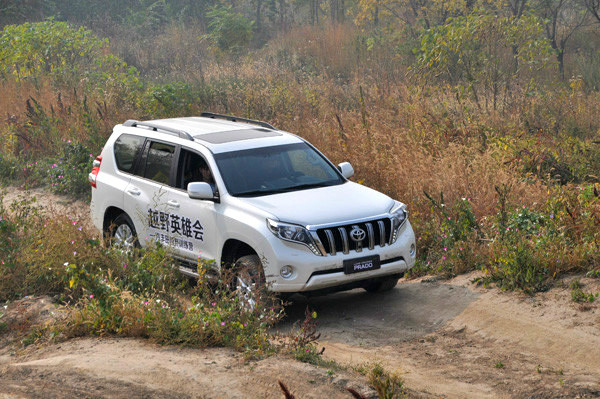
[[[303,226],[374,217],[394,204],[387,195],[353,182],[240,200],[282,222]]]

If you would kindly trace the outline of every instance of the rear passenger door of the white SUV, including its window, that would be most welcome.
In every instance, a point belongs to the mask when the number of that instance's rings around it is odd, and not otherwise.
[[[142,246],[153,240],[170,244],[168,187],[176,149],[174,144],[146,140],[136,173],[125,189],[125,212],[133,220]]]

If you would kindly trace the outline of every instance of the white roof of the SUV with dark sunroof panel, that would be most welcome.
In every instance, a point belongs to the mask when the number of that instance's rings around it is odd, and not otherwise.
[[[194,142],[207,147],[215,154],[303,142],[296,135],[282,130],[269,129],[265,127],[269,126],[268,124],[258,121],[254,124],[250,121],[245,122],[245,120],[185,117],[144,122],[128,121],[122,126],[134,128],[136,133],[139,133],[138,128],[157,133],[165,131],[170,137],[173,137],[173,132],[178,132],[180,137],[193,138]]]

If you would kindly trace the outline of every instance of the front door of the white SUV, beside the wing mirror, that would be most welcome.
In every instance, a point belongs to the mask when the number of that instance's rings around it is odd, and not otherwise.
[[[206,182],[216,187],[204,156],[181,147],[174,187],[169,189],[168,196],[171,245],[175,254],[192,262],[198,258],[218,259],[220,239],[216,213],[220,204],[190,198],[187,185],[192,182]]]

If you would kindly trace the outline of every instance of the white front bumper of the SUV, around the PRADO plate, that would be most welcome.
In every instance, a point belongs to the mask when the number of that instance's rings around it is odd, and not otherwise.
[[[407,220],[400,230],[397,241],[384,247],[348,254],[317,256],[308,248],[295,243],[282,241],[276,237],[269,239],[262,257],[267,283],[275,292],[309,292],[343,286],[349,283],[369,280],[387,275],[401,274],[414,266],[415,255],[410,247],[415,244],[415,235]],[[343,262],[365,256],[379,255],[381,268],[365,272],[345,274]],[[283,266],[290,265],[294,273],[290,278],[279,274]]]

